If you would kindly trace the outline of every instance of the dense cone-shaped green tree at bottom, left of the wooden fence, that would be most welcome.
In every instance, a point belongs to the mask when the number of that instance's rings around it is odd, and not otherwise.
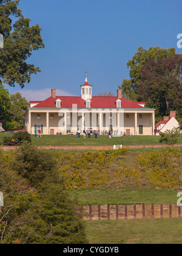
[[[47,189],[42,194],[27,243],[87,243],[83,223],[64,185],[60,183],[47,185]]]

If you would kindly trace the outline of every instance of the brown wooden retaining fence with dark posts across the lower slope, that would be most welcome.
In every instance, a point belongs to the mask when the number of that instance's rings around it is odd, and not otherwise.
[[[106,206],[80,206],[76,210],[83,220],[129,220],[143,218],[180,218],[177,204],[132,204]]]

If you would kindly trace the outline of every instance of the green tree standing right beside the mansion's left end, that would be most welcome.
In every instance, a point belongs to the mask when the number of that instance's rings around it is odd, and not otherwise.
[[[12,103],[6,122],[4,123],[5,130],[23,129],[25,125],[24,113],[29,108],[30,103],[21,96],[20,92],[10,95],[10,101]]]

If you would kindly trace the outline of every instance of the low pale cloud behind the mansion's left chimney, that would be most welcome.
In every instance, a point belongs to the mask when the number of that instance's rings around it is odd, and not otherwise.
[[[51,96],[51,89],[41,89],[41,90],[23,90],[21,91],[22,97],[25,97],[26,100],[45,100]],[[56,89],[56,95],[57,96],[75,96],[73,94],[70,94],[69,92],[62,91],[60,89]]]

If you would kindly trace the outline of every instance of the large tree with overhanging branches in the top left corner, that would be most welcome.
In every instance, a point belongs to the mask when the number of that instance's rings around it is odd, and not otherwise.
[[[4,36],[4,48],[0,50],[0,81],[10,86],[18,83],[21,88],[30,82],[32,74],[41,70],[26,62],[33,50],[44,47],[38,24],[30,27],[30,19],[24,18],[18,9],[19,0],[0,0],[0,33]],[[12,24],[12,16],[16,21]]]

